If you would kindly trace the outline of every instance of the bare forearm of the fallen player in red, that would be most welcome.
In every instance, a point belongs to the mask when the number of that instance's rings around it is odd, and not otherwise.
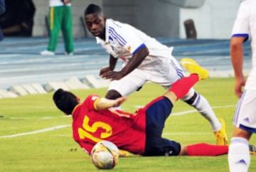
[[[109,100],[109,99],[106,99],[106,98],[102,97],[99,100],[96,100],[95,109],[96,110],[102,110],[102,109],[108,109],[110,107],[118,107],[125,100],[127,100],[127,97],[119,97],[115,100]]]

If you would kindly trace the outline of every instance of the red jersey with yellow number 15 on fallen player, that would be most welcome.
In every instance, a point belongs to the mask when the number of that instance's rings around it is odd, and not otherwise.
[[[100,97],[89,95],[73,111],[73,138],[90,154],[92,147],[102,140],[112,141],[119,149],[143,154],[145,149],[144,109],[130,114],[121,110],[95,110]],[[123,116],[123,117],[122,117]]]

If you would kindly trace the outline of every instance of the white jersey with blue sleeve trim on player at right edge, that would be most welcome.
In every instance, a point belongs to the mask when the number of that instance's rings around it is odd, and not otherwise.
[[[245,89],[256,90],[256,1],[247,0],[240,4],[238,16],[235,19],[232,36],[251,37],[252,70],[247,78]]]

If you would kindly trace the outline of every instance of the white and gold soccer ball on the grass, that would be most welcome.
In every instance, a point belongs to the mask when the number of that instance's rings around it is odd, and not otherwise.
[[[100,141],[93,146],[91,151],[92,163],[99,169],[112,169],[117,166],[119,150],[110,141]]]

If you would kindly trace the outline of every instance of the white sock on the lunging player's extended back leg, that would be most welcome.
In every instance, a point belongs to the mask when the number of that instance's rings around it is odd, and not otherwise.
[[[208,120],[208,122],[210,122],[210,126],[213,131],[218,131],[221,129],[222,125],[205,97],[198,94],[196,100],[191,105],[195,107],[198,112],[200,112],[202,116]]]

